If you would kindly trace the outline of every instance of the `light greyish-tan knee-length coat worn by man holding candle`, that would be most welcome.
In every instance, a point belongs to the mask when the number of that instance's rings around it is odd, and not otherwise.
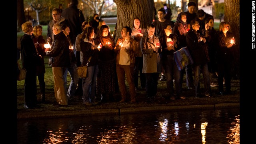
[[[140,48],[143,54],[143,68],[142,73],[161,73],[162,64],[160,62],[159,53],[162,52],[162,46],[159,47],[158,53],[154,51],[156,43],[159,42],[159,38],[153,36],[153,42],[150,40],[148,34],[141,38]]]

